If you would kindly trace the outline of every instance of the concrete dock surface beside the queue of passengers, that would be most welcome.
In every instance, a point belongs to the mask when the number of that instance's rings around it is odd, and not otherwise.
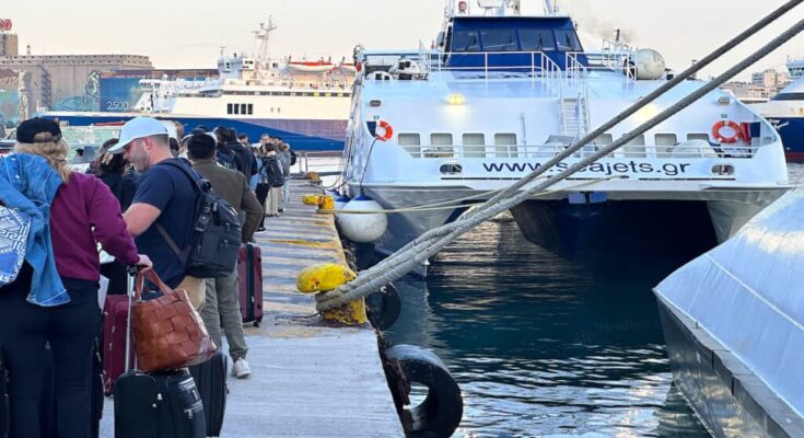
[[[295,290],[302,268],[343,261],[333,216],[301,203],[303,194],[318,193],[306,181],[291,181],[290,205],[266,218],[267,231],[256,235],[265,319],[260,327],[246,326],[252,377],[229,377],[222,437],[405,436],[374,331],[323,326],[314,298]],[[110,397],[101,436],[114,436]]]

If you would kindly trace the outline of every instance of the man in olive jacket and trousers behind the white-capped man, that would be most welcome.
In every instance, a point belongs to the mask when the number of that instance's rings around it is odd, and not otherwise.
[[[249,191],[245,176],[240,172],[224,169],[215,164],[215,141],[206,134],[194,135],[187,142],[187,158],[193,169],[209,180],[212,188],[237,210],[245,214],[243,224],[243,242],[248,242],[263,216],[263,207]],[[237,269],[223,278],[207,279],[207,297],[201,318],[215,345],[221,343],[221,325],[229,341],[229,355],[232,357],[232,373],[237,379],[250,374],[246,361],[248,347],[243,332],[243,319],[240,309],[240,278]]]

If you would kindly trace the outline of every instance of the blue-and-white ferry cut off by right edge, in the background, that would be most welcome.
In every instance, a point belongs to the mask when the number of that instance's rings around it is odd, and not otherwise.
[[[753,107],[779,130],[788,161],[804,161],[804,77]]]

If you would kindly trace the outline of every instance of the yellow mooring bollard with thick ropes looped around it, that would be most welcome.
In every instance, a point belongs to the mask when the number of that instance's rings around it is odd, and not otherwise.
[[[296,289],[302,293],[318,293],[335,290],[338,286],[358,278],[348,267],[335,263],[308,266],[296,277]],[[365,315],[363,299],[352,301],[338,309],[323,313],[324,321],[342,325],[363,325],[369,319]]]

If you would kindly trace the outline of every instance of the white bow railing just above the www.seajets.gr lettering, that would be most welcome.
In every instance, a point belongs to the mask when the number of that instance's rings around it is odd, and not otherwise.
[[[401,146],[415,159],[549,159],[567,148],[567,145],[464,145],[464,146]],[[573,158],[593,155],[605,145],[589,145]],[[608,158],[631,159],[751,159],[759,147],[749,145],[627,145]]]

